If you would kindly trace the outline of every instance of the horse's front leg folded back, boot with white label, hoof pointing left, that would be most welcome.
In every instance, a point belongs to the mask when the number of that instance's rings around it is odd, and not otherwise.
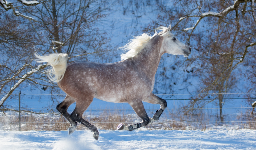
[[[133,131],[140,127],[146,126],[148,123],[150,123],[150,118],[147,116],[147,113],[145,111],[144,105],[141,100],[132,101],[132,102],[128,102],[128,103],[132,106],[135,113],[142,119],[142,122],[133,124],[133,125],[129,125],[129,126],[125,126],[124,123],[120,123],[118,125],[118,127],[116,128],[116,130]]]

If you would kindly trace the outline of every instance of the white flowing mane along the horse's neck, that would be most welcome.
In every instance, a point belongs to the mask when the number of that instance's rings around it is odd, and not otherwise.
[[[157,33],[158,30],[161,32]],[[133,58],[136,56],[143,48],[148,44],[149,40],[156,35],[165,36],[169,34],[169,28],[167,27],[159,27],[155,29],[155,34],[151,36],[150,34],[143,33],[142,35],[135,36],[133,39],[129,40],[125,46],[119,47],[118,49],[123,49],[127,51],[125,54],[121,55],[121,60],[126,60],[129,58]]]

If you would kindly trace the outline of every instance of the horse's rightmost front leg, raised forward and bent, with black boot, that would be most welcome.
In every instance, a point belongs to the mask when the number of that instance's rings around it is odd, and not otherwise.
[[[157,121],[167,107],[166,100],[159,98],[153,93],[150,93],[150,95],[143,101],[151,104],[159,104],[161,106],[159,110],[156,110],[153,118],[150,118],[150,123]]]

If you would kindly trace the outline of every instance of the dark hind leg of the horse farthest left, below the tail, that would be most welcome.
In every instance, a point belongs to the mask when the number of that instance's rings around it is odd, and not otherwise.
[[[56,109],[65,117],[70,123],[70,127],[68,128],[68,135],[73,133],[76,129],[77,122],[71,119],[70,114],[67,112],[68,107],[76,102],[73,98],[70,96],[66,96],[66,98],[57,105]]]

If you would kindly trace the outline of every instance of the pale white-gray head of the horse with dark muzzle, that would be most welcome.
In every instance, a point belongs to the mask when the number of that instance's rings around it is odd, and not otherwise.
[[[191,48],[180,42],[171,32],[171,25],[163,33],[162,51],[173,55],[183,55],[188,57],[191,53]]]

